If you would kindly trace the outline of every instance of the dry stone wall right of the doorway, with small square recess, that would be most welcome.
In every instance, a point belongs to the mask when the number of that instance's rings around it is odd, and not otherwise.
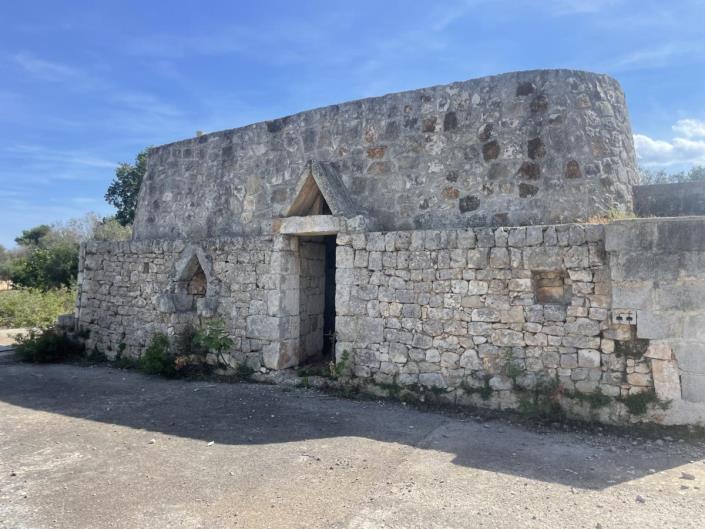
[[[603,226],[351,234],[338,244],[337,355],[351,354],[355,377],[507,408],[552,381],[564,395],[613,398],[653,387],[648,358],[616,347],[632,342],[610,323]]]

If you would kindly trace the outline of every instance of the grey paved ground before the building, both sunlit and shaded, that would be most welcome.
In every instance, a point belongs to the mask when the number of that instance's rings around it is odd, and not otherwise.
[[[705,448],[677,438],[0,364],[3,529],[704,526]]]

